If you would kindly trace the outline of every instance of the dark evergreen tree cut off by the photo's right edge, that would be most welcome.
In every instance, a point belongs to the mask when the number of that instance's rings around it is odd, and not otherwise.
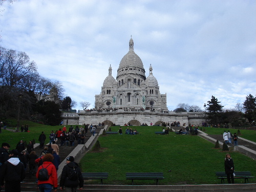
[[[253,97],[251,94],[246,96],[246,99],[243,103],[245,110],[245,117],[249,122],[256,120],[256,97]]]

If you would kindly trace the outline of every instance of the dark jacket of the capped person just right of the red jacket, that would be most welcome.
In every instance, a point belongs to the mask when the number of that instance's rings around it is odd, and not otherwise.
[[[69,170],[73,169],[73,167],[75,167],[75,169],[78,170],[78,180],[77,181],[71,181],[68,178]],[[82,178],[81,170],[76,162],[70,162],[67,165],[65,165],[62,169],[59,186],[60,187],[63,187],[63,186],[77,187],[78,185],[79,185],[79,188],[81,188],[83,186],[83,178]]]

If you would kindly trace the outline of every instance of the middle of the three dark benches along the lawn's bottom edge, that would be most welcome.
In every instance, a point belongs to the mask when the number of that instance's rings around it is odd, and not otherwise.
[[[133,180],[147,180],[147,179],[154,179],[157,181],[158,185],[158,180],[159,179],[164,179],[163,173],[126,173],[126,179],[132,180],[132,185],[133,185]]]

